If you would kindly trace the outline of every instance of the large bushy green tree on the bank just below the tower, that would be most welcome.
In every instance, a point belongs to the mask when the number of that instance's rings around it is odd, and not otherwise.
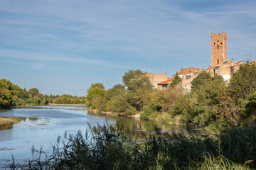
[[[174,106],[174,115],[181,115],[182,123],[211,125],[219,111],[220,93],[225,90],[222,77],[209,77],[203,72],[193,79],[193,91],[178,98]],[[194,81],[195,80],[195,81]]]

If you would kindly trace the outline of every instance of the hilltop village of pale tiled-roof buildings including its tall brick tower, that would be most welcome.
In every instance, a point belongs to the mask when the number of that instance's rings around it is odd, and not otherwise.
[[[183,92],[191,91],[191,81],[195,79],[201,72],[220,75],[225,81],[229,81],[234,72],[237,72],[242,61],[234,62],[227,60],[227,33],[222,34],[211,33],[211,64],[207,69],[189,67],[181,69],[178,72],[178,77],[181,78],[177,87]],[[172,77],[167,77],[167,74],[147,73],[142,76],[149,77],[151,84],[156,89],[166,89],[174,80],[175,74]]]

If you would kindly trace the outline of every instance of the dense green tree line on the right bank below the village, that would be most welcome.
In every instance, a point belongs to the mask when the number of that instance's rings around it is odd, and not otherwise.
[[[119,115],[139,114],[140,118],[178,122],[221,130],[230,126],[255,124],[256,66],[240,66],[229,82],[202,72],[191,81],[192,89],[183,93],[176,84],[178,74],[165,90],[154,89],[139,69],[129,70],[123,84],[105,89],[95,83],[87,90],[87,106],[94,111]]]

